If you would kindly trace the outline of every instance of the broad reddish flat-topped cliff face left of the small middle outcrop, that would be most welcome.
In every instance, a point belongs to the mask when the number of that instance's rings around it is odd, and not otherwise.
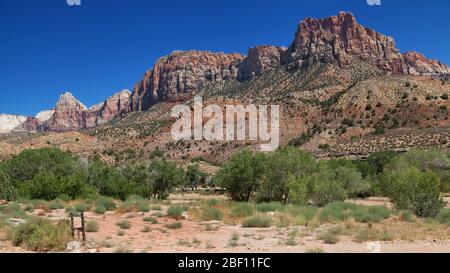
[[[159,101],[177,99],[199,91],[208,83],[234,80],[244,59],[240,54],[207,51],[173,52],[159,59],[144,79],[136,84],[132,111],[145,111]]]

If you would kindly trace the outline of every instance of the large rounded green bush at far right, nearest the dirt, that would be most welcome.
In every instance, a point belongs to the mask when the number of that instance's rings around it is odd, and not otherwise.
[[[396,208],[412,210],[420,217],[434,217],[444,207],[435,173],[408,168],[391,173],[389,178],[389,197]]]

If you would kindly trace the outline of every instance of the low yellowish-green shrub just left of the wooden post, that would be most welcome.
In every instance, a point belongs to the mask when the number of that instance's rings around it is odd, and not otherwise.
[[[33,219],[13,231],[12,241],[15,246],[23,245],[37,252],[64,250],[71,240],[69,230],[66,222],[54,225],[49,220]]]

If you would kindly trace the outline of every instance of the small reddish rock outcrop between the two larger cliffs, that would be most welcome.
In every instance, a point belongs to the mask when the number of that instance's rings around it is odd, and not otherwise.
[[[239,67],[238,79],[248,80],[260,76],[267,70],[279,66],[281,55],[287,50],[278,46],[257,46],[248,51],[248,56]]]

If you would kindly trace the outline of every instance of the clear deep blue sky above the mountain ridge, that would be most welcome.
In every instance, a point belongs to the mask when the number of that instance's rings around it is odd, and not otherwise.
[[[173,50],[288,46],[303,18],[351,11],[402,51],[450,63],[448,0],[0,0],[0,113],[34,115],[70,90],[87,106],[131,89]]]

